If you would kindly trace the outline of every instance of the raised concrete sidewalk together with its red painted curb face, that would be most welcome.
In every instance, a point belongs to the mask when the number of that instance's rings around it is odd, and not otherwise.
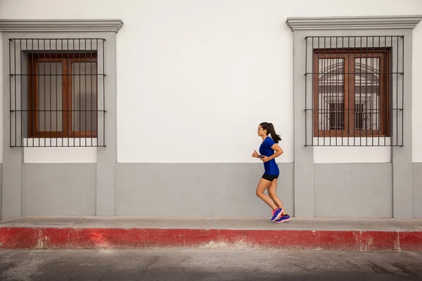
[[[2,249],[128,247],[422,251],[422,219],[25,216],[0,222]]]

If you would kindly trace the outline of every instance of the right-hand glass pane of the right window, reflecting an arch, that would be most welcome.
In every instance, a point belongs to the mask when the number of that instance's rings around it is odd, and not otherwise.
[[[354,59],[354,129],[380,129],[380,59]]]

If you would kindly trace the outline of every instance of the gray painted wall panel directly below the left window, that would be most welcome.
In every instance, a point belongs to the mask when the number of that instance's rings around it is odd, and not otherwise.
[[[94,216],[96,164],[23,164],[22,214]]]

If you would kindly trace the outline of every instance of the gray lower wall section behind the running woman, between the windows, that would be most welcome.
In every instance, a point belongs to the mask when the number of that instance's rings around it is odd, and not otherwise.
[[[293,212],[293,163],[277,193]],[[116,215],[271,216],[255,195],[262,164],[117,164]]]

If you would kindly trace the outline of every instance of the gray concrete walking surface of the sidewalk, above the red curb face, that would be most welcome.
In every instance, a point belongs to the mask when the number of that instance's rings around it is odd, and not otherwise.
[[[0,221],[0,228],[17,227],[422,231],[422,218],[292,218],[273,223],[262,217],[24,216]]]

